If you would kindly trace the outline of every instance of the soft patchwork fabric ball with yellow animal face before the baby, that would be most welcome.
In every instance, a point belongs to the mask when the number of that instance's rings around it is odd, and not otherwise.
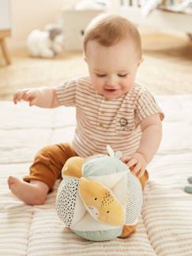
[[[88,160],[75,156],[62,169],[56,209],[66,227],[92,241],[115,239],[123,225],[137,223],[141,213],[141,184],[119,152]]]

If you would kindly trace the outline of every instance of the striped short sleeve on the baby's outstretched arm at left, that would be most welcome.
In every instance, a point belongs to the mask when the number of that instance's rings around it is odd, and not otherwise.
[[[66,107],[75,107],[76,105],[77,78],[65,81],[56,87],[56,94],[59,104]]]

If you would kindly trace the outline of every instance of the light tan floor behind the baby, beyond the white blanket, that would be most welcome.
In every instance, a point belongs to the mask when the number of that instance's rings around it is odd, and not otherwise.
[[[164,34],[142,36],[145,61],[137,81],[155,94],[192,93],[192,43]],[[11,100],[18,88],[52,86],[74,76],[87,75],[81,52],[63,52],[54,59],[31,58],[26,49],[11,53],[12,65],[0,55],[0,100]]]

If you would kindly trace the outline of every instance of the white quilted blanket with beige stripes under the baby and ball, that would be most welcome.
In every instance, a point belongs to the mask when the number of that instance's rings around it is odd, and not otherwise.
[[[55,211],[55,190],[45,205],[28,206],[10,193],[9,175],[28,173],[35,153],[73,137],[73,108],[40,109],[0,102],[0,255],[192,255],[192,96],[159,96],[164,137],[148,170],[137,231],[128,239],[93,243],[65,228]],[[192,186],[192,185],[191,185]]]

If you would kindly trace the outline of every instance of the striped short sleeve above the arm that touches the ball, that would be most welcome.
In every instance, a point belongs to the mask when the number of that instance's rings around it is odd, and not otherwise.
[[[141,121],[153,114],[160,114],[161,121],[164,119],[164,113],[151,92],[147,88],[143,88],[137,100],[137,117]]]

